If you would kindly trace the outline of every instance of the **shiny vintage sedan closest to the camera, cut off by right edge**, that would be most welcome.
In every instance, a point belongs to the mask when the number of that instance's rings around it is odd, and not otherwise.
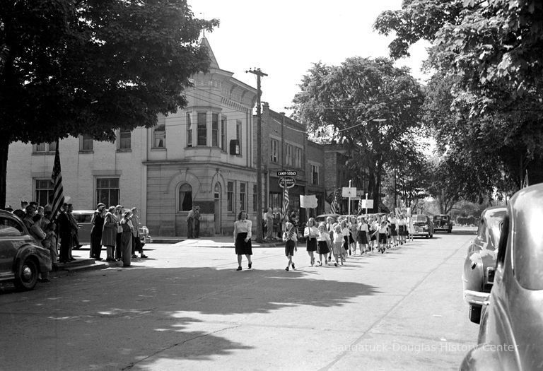
[[[503,220],[477,346],[461,370],[543,369],[543,184],[517,192]]]

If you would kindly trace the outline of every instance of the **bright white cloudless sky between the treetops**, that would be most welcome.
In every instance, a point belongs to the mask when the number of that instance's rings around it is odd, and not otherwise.
[[[401,8],[402,0],[188,0],[197,18],[218,18],[221,25],[206,32],[218,66],[256,88],[248,69],[259,68],[262,101],[271,110],[286,112],[300,90],[298,84],[314,63],[338,66],[349,57],[389,57],[392,37],[373,30],[378,15]],[[397,61],[414,77],[428,44],[410,49],[411,57]]]

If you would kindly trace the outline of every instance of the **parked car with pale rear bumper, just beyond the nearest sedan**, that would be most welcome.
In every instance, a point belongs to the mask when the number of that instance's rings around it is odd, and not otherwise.
[[[476,324],[481,318],[483,299],[490,293],[494,281],[498,241],[506,211],[505,206],[486,208],[481,213],[477,236],[467,249],[462,285],[464,300],[469,304],[469,320]]]

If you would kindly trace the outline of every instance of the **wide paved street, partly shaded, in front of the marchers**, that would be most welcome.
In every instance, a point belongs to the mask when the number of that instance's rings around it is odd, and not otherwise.
[[[477,340],[460,281],[473,236],[342,267],[309,267],[302,247],[288,272],[281,248],[253,249],[237,272],[227,244],[187,240],[148,245],[131,268],[4,285],[0,369],[457,370]]]

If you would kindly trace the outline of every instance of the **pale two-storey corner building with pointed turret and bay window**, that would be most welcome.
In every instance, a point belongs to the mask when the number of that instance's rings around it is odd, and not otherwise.
[[[193,76],[184,110],[150,129],[119,131],[116,143],[70,137],[59,143],[64,194],[75,208],[136,206],[153,235],[187,235],[187,214],[200,206],[201,234],[231,232],[240,209],[255,209],[252,109],[257,90],[211,66]],[[52,198],[54,144],[13,143],[8,204]],[[251,218],[255,219],[255,213]]]

